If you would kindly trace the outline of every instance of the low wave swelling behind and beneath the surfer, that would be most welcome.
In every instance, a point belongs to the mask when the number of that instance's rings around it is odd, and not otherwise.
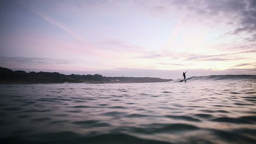
[[[256,80],[256,75],[210,75],[210,76],[191,76],[184,79],[173,80],[173,82],[183,82],[183,81],[192,81],[192,80]]]

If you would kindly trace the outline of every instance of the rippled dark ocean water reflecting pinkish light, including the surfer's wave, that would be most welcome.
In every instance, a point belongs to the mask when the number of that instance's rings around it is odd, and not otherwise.
[[[256,76],[2,84],[0,142],[255,144]]]

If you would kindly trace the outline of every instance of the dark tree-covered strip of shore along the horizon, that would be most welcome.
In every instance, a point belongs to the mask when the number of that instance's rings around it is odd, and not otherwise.
[[[18,84],[34,84],[34,83],[125,83],[125,82],[168,82],[172,79],[161,78],[136,78],[136,77],[106,77],[100,74],[60,74],[58,72],[25,72],[22,70],[12,71],[8,68],[0,67],[0,83],[18,83]]]

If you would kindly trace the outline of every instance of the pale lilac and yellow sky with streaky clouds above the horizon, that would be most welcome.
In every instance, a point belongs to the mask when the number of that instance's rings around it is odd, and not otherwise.
[[[0,0],[0,66],[182,78],[256,75],[256,0]]]

